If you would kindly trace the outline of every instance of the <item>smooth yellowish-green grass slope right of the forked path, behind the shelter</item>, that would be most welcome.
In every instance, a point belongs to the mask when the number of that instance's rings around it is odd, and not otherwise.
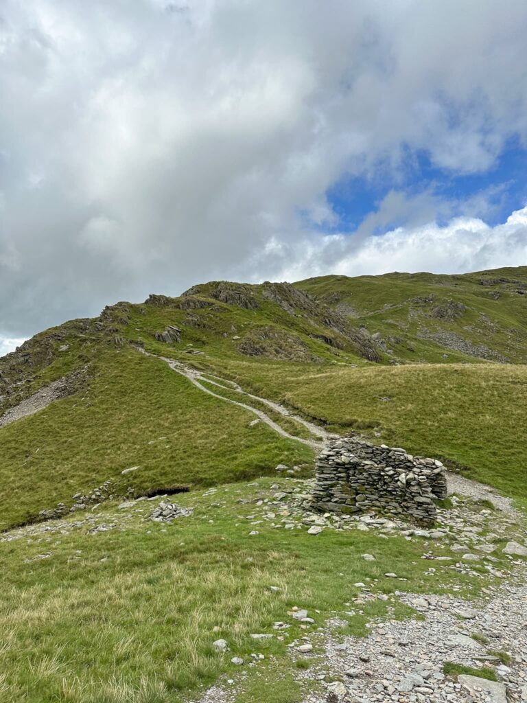
[[[527,499],[527,366],[302,368],[208,362],[242,387],[341,432],[354,430],[414,454],[437,456],[464,475]]]

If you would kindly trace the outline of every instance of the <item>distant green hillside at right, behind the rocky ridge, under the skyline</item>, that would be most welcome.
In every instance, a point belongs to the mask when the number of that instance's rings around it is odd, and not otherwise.
[[[398,361],[527,361],[527,266],[460,276],[323,276],[295,285],[365,325]]]

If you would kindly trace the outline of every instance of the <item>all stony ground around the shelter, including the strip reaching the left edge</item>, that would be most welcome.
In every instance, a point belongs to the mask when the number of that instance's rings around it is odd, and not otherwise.
[[[290,671],[311,691],[303,703],[527,701],[527,564],[514,553],[507,555],[506,562],[496,558],[498,553],[502,557],[504,535],[519,544],[520,552],[527,553],[521,515],[507,498],[487,486],[450,477],[451,503],[438,510],[438,522],[433,528],[421,529],[385,517],[338,517],[312,512],[308,501],[314,479],[297,479],[289,475],[290,471],[277,467],[276,482],[268,491],[261,491],[258,482],[249,484],[254,485],[255,497],[244,499],[251,507],[249,514],[239,517],[247,524],[247,534],[259,534],[264,524],[286,531],[304,529],[313,536],[314,547],[318,535],[325,530],[350,531],[350,537],[353,531],[375,531],[386,539],[398,534],[419,540],[422,559],[429,562],[429,574],[441,567],[455,569],[469,579],[481,579],[481,573],[487,572],[495,582],[483,592],[483,599],[474,603],[457,597],[455,586],[445,595],[407,593],[405,579],[396,573],[385,574],[398,581],[395,598],[412,607],[415,615],[404,621],[372,621],[367,638],[344,636],[341,627],[345,622],[337,613],[328,623],[318,626],[316,613],[303,612],[299,604],[297,616],[306,618],[306,635],[289,643],[289,657]],[[214,500],[217,496],[215,505],[219,509],[228,499],[214,488],[204,496]],[[75,529],[96,534],[126,529],[136,516],[171,522],[190,514],[172,502],[174,497],[124,501],[119,510],[112,512],[111,519],[109,515],[99,515],[95,505],[78,520],[72,520],[73,516],[48,520],[5,533],[0,541],[36,538],[43,548],[34,558],[53,558],[53,534],[63,535]],[[480,502],[488,500],[495,508]],[[375,560],[375,553],[363,554],[363,559]],[[373,583],[354,586],[360,588],[360,595],[346,604],[349,614],[360,612],[370,600],[388,600],[377,593]],[[388,612],[391,610],[389,607]],[[275,624],[275,636],[280,635],[280,629],[287,633],[291,617],[295,614],[284,613],[283,622]],[[298,659],[306,660],[308,669],[298,669]],[[458,680],[457,675],[445,673],[448,662],[472,669],[487,666],[497,681],[474,681],[463,676]],[[256,659],[243,662],[235,678],[222,681],[195,703],[235,703],[247,672],[254,666],[259,666]],[[493,690],[486,690],[489,686]]]

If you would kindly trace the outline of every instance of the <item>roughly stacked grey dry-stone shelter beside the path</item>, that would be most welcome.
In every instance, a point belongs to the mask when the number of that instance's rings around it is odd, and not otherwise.
[[[445,498],[446,493],[441,461],[346,438],[333,441],[318,457],[313,508],[345,514],[386,512],[432,523],[434,498]]]

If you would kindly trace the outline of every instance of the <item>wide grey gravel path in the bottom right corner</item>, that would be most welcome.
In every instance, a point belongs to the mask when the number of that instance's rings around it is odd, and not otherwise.
[[[517,562],[516,569],[516,585],[486,591],[486,602],[479,605],[450,595],[403,593],[401,600],[425,619],[379,623],[367,638],[346,638],[344,644],[330,635],[320,674],[337,676],[341,685],[325,685],[326,690],[334,688],[339,699],[353,703],[499,700],[484,691],[470,693],[446,677],[443,664],[454,662],[476,669],[496,666],[509,701],[527,700],[527,565]],[[493,652],[506,652],[510,661],[500,664]],[[326,700],[327,692],[304,703]]]

